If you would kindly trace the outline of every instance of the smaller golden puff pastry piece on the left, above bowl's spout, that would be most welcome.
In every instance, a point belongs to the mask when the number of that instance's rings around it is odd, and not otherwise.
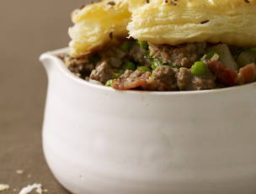
[[[115,37],[127,36],[131,19],[128,3],[122,0],[91,3],[72,13],[69,29],[71,55],[87,55]]]

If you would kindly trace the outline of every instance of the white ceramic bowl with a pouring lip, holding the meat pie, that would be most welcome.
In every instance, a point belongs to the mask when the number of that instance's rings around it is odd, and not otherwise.
[[[43,147],[75,194],[256,193],[256,83],[200,92],[120,92],[54,54]]]

